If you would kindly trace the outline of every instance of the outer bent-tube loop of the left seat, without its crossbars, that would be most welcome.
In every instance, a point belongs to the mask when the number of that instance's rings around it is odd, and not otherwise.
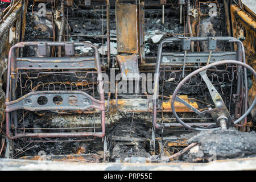
[[[15,134],[14,136],[11,136],[10,133],[10,120],[11,120],[11,114],[10,114],[10,106],[14,101],[13,98],[14,95],[11,94],[12,90],[15,90],[13,88],[13,86],[11,86],[11,82],[14,81],[15,77],[14,75],[12,75],[12,73],[14,73],[14,71],[16,71],[16,56],[15,56],[15,52],[16,49],[18,48],[24,48],[26,46],[38,46],[39,42],[20,42],[15,44],[15,46],[10,48],[10,52],[9,52],[9,60],[8,60],[8,68],[7,68],[7,88],[6,88],[6,136],[10,139],[16,139],[16,138],[22,138],[22,137],[38,137],[38,138],[42,138],[42,137],[88,137],[88,136],[94,136],[94,137],[104,137],[105,135],[105,99],[104,99],[104,83],[102,80],[102,73],[101,73],[101,63],[100,63],[100,55],[98,53],[98,49],[96,46],[94,46],[93,44],[90,43],[86,43],[86,42],[74,42],[74,43],[70,43],[70,42],[43,42],[44,44],[47,44],[47,46],[65,46],[66,43],[68,44],[73,44],[73,46],[85,46],[85,47],[90,47],[93,48],[95,51],[95,62],[96,62],[96,68],[97,69],[97,80],[98,80],[98,92],[100,94],[100,100],[90,100],[90,97],[88,96],[89,100],[92,101],[92,104],[89,106],[89,108],[95,108],[97,107],[97,109],[101,110],[101,127],[102,127],[102,131],[101,132],[80,132],[80,133],[28,133],[28,134]],[[42,57],[41,57],[42,58]],[[44,57],[43,57],[44,59]],[[57,58],[58,60],[61,60],[61,58]],[[47,60],[47,59],[45,59]],[[70,61],[73,61],[72,59]],[[61,62],[61,61],[60,61]],[[38,68],[35,68],[38,69]],[[42,68],[43,69],[43,68]],[[59,69],[59,68],[52,68],[52,69]],[[66,68],[66,69],[72,69],[72,68]],[[80,68],[81,69],[81,68]],[[55,93],[59,93],[60,91],[53,91]],[[70,91],[61,91],[62,93],[67,94]],[[77,92],[77,91],[71,91],[71,92]],[[15,92],[12,92],[15,93]],[[84,93],[84,92],[82,92]],[[80,92],[80,94],[82,94]],[[51,93],[50,93],[51,94]],[[74,93],[75,94],[75,93]],[[13,95],[13,96],[12,96]],[[28,94],[27,94],[28,95]],[[25,95],[27,97],[27,95]],[[86,95],[84,93],[84,95]],[[97,102],[97,105],[94,106],[94,103]],[[77,106],[69,106],[69,108],[66,108],[68,110],[75,108]],[[16,108],[19,109],[19,108]],[[24,108],[23,108],[24,109]],[[42,109],[42,108],[41,108]],[[55,108],[56,109],[56,108]],[[75,108],[77,110],[77,108]],[[84,107],[81,110],[85,110],[88,109],[88,107]],[[59,109],[57,110],[63,110],[63,108],[59,107]],[[13,117],[17,117],[17,115],[13,115]]]

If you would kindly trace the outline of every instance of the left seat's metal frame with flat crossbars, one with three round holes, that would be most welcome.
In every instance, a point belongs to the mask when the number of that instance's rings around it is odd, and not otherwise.
[[[24,48],[26,46],[41,46],[41,50],[39,52],[43,52],[46,54],[47,46],[64,46],[65,47],[65,55],[72,56],[75,46],[85,46],[94,49],[94,64],[92,64],[92,57],[88,57],[85,60],[79,59],[79,57],[75,57],[72,59],[67,59],[67,57],[56,57],[56,59],[52,59],[47,61],[47,57],[36,57],[31,63],[26,64],[27,58],[24,57],[16,57],[16,50],[19,48]],[[39,53],[40,55],[40,53]],[[78,60],[77,60],[78,59]],[[98,81],[98,92],[100,94],[100,100],[96,100],[89,94],[86,94],[82,91],[41,91],[41,92],[30,92],[23,97],[20,97],[18,100],[13,98],[15,97],[15,71],[19,69],[17,64],[19,61],[24,62],[24,67],[22,69],[96,69],[97,70],[97,81]],[[57,60],[57,61],[56,61]],[[31,60],[30,60],[31,61]],[[28,61],[29,62],[29,61]],[[40,62],[40,64],[39,64]],[[32,64],[32,67],[31,67]],[[82,66],[81,66],[82,64]],[[44,67],[42,66],[44,65]],[[57,65],[55,67],[54,65]],[[64,106],[53,106],[53,103],[47,102],[48,105],[40,106],[38,103],[35,104],[33,97],[38,98],[39,96],[48,96],[51,98],[53,95],[64,96],[64,99],[67,99],[67,96],[72,95],[78,98],[78,106],[67,105],[67,101],[63,102]],[[30,100],[28,101],[27,100]],[[82,103],[81,99],[85,99],[86,103]],[[25,103],[26,102],[26,103]],[[96,46],[86,42],[21,42],[15,44],[15,46],[10,48],[9,52],[9,61],[7,68],[7,88],[6,88],[6,136],[10,139],[22,138],[22,137],[38,137],[38,138],[47,138],[47,137],[104,137],[105,135],[105,99],[104,99],[104,84],[102,81],[102,73],[101,73],[101,63],[100,56],[98,53],[98,49]],[[25,105],[24,105],[25,104]],[[27,105],[26,105],[27,104]],[[31,105],[31,106],[28,106]],[[38,107],[33,107],[38,106]],[[52,107],[53,106],[53,107]],[[14,135],[11,135],[10,132],[10,123],[11,123],[11,111],[16,111],[18,109],[25,109],[31,111],[40,111],[40,110],[86,110],[86,109],[98,109],[101,111],[101,132],[77,132],[77,133],[23,133],[18,134],[15,132]],[[12,114],[13,118],[17,117],[16,114]],[[15,122],[15,121],[14,121]],[[18,123],[16,123],[18,125]]]

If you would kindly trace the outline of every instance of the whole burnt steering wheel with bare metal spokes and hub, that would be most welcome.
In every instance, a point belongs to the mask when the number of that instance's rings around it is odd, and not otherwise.
[[[242,63],[241,61],[235,61],[235,60],[217,61],[215,63],[208,64],[205,67],[196,69],[196,71],[193,71],[192,73],[190,73],[188,76],[183,78],[183,80],[181,80],[179,82],[179,84],[176,86],[176,88],[174,90],[174,94],[172,94],[172,100],[171,100],[172,114],[174,114],[174,117],[177,119],[177,121],[180,122],[181,125],[183,125],[187,129],[196,130],[196,131],[226,129],[226,127],[236,125],[238,122],[242,121],[242,119],[244,119],[246,117],[246,115],[248,115],[250,113],[250,111],[254,108],[254,106],[256,104],[256,97],[254,98],[253,103],[251,104],[249,109],[247,109],[246,112],[240,118],[238,118],[236,121],[234,121],[234,122],[232,121],[230,113],[229,113],[228,109],[226,108],[226,105],[224,104],[224,101],[222,100],[220,94],[217,92],[216,88],[214,88],[212,82],[210,82],[210,80],[206,74],[207,69],[217,66],[217,65],[222,65],[222,64],[237,64],[237,65],[240,65],[241,67],[249,69],[249,71],[251,73],[253,73],[253,76],[254,76],[254,79],[256,82],[256,72],[254,71],[254,69],[251,68],[249,65]],[[188,81],[192,76],[195,76],[197,74],[201,75],[205,84],[207,85],[207,88],[210,92],[210,96],[212,97],[214,105],[216,106],[214,109],[199,111],[192,105],[188,104],[188,102],[185,102],[182,98],[177,96],[177,93],[178,93],[179,89],[181,88],[181,86],[183,86],[185,84],[185,82]],[[196,114],[198,114],[200,116],[204,116],[205,114],[211,114],[214,121],[218,124],[219,127],[215,127],[215,128],[211,128],[211,129],[206,129],[206,128],[204,129],[201,127],[189,126],[188,124],[183,122],[178,117],[178,115],[175,111],[175,101],[181,102],[182,104],[187,106],[190,110],[194,111]],[[229,123],[229,126],[226,126],[226,123]]]

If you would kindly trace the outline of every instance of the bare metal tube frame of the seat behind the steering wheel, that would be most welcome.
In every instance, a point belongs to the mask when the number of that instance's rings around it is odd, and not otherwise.
[[[209,41],[209,39],[211,39],[213,37],[191,37],[191,38],[185,38],[185,39],[189,39],[190,42],[202,42],[202,41]],[[222,41],[222,42],[229,42],[229,43],[236,43],[237,46],[237,61],[243,61],[243,63],[246,63],[246,59],[245,59],[245,49],[243,47],[243,44],[240,40],[233,38],[233,37],[228,37],[228,36],[223,36],[223,37],[214,37],[214,39],[216,41]],[[162,127],[184,127],[183,125],[181,125],[180,123],[157,123],[156,122],[156,113],[157,113],[157,102],[158,102],[158,87],[159,87],[159,69],[160,69],[160,65],[163,63],[162,59],[163,59],[163,55],[168,55],[168,53],[162,51],[163,49],[163,45],[166,43],[173,43],[173,42],[182,42],[184,40],[184,38],[167,38],[164,39],[158,47],[158,56],[156,59],[156,68],[155,68],[155,77],[154,77],[154,94],[153,94],[153,111],[152,111],[152,125],[154,126],[155,129],[159,129]],[[175,54],[174,52],[172,52],[173,54]],[[205,52],[204,52],[205,53]],[[177,52],[177,55],[179,55],[180,52]],[[192,56],[193,54],[198,54],[198,52],[189,52],[189,54]],[[205,62],[206,63],[206,62]],[[213,63],[213,61],[210,61],[210,63]],[[165,63],[168,64],[168,63]],[[170,65],[173,63],[169,63]],[[185,64],[185,63],[184,63]],[[247,71],[246,68],[243,69],[243,73],[244,73],[244,80],[245,80],[245,112],[247,111]],[[238,74],[238,83],[237,83],[237,88],[241,88],[242,84],[241,84],[241,74]],[[242,93],[243,94],[243,93]],[[236,105],[236,109],[238,109],[238,105]],[[247,117],[244,118],[244,121],[246,122]],[[214,123],[187,123],[188,126],[192,126],[195,124],[200,124],[201,126],[210,126]]]

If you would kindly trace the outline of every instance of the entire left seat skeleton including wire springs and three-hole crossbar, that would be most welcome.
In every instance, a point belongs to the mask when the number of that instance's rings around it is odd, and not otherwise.
[[[35,46],[38,48],[38,54],[44,57],[16,57],[15,50],[28,46]],[[67,57],[46,57],[48,47],[62,46],[65,48],[65,55]],[[74,47],[84,46],[94,49],[94,57],[74,57]],[[94,71],[96,69],[96,71]],[[31,76],[32,74],[36,76]],[[31,75],[30,75],[31,74]],[[68,75],[68,74],[71,74]],[[81,75],[83,74],[83,75]],[[104,88],[102,82],[100,56],[97,47],[93,44],[80,42],[22,42],[11,47],[9,53],[8,72],[7,72],[7,86],[6,86],[6,136],[10,139],[21,137],[104,137],[105,135],[105,105],[104,105]],[[13,76],[11,76],[13,75]],[[14,76],[15,75],[15,76]],[[25,75],[23,77],[22,75]],[[40,75],[51,76],[54,82],[43,82],[42,79],[38,81]],[[57,81],[56,77],[60,77]],[[88,81],[88,77],[91,79]],[[93,75],[93,76],[92,76]],[[94,76],[97,75],[97,76]],[[67,78],[67,76],[69,76]],[[76,80],[71,80],[71,78]],[[24,78],[25,86],[22,85]],[[68,80],[65,80],[68,79]],[[91,81],[92,80],[92,81]],[[94,80],[97,80],[94,81]],[[63,82],[64,81],[64,82]],[[30,85],[27,83],[30,82]],[[91,92],[86,93],[96,87],[89,86],[98,84],[97,99]],[[35,84],[33,86],[33,83]],[[16,86],[19,85],[19,86]],[[45,87],[47,85],[47,87]],[[50,87],[52,85],[52,88]],[[28,87],[27,87],[28,86]],[[18,95],[18,88],[21,89]],[[24,92],[26,89],[26,93]],[[23,90],[22,90],[23,89]],[[28,92],[27,92],[28,91]],[[88,111],[89,109],[99,110],[101,113],[101,132],[96,132],[94,126],[92,131],[82,132],[58,132],[56,129],[52,133],[26,133],[26,128],[23,125],[21,129],[18,121],[24,122],[24,119],[18,119],[17,110],[23,109],[26,111]],[[89,110],[92,111],[92,110]],[[24,117],[23,117],[24,118]],[[11,126],[11,127],[10,127]],[[39,127],[33,127],[33,130]],[[72,130],[73,128],[65,128]],[[83,128],[84,129],[84,128]],[[12,131],[14,135],[12,135]],[[23,134],[19,132],[23,130]],[[41,129],[39,129],[41,130]],[[89,129],[88,129],[89,130]]]

